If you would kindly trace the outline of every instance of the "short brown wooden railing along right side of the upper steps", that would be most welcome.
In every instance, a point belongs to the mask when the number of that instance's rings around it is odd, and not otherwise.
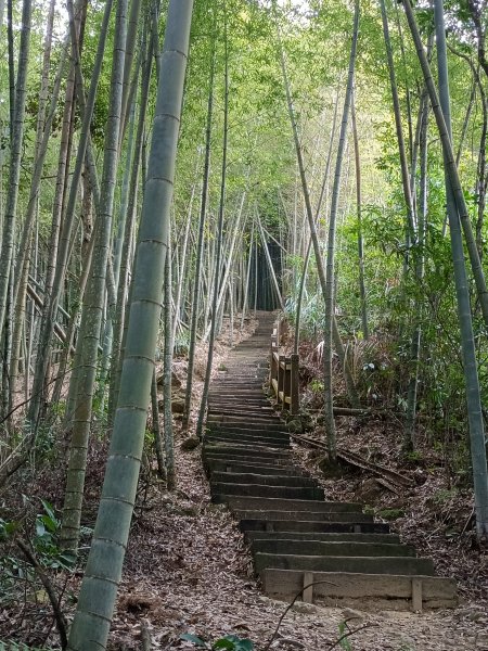
[[[298,363],[299,356],[280,355],[280,323],[271,335],[271,350],[269,363],[269,385],[277,396],[278,409],[290,410],[290,413],[298,413]]]

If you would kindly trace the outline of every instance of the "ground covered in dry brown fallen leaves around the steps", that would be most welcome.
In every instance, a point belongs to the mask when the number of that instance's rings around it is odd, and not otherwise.
[[[249,323],[247,334],[252,328]],[[216,369],[224,357],[226,344],[221,342]],[[198,367],[204,359],[201,352]],[[177,363],[176,369],[177,374],[184,373],[184,363]],[[202,369],[198,375],[202,376]],[[400,432],[391,422],[371,419],[358,423],[346,418],[337,422],[343,447],[362,454],[368,449],[370,456],[373,450],[376,462],[408,472],[397,463]],[[423,450],[423,468],[411,471],[419,477],[418,486],[399,497],[378,489],[370,475],[354,469],[345,468],[341,476],[326,478],[320,470],[323,454],[293,446],[297,463],[324,485],[329,499],[361,500],[377,514],[394,513],[393,529],[400,533],[403,541],[414,544],[420,556],[432,557],[439,574],[457,578],[460,607],[413,614],[297,602],[273,637],[287,604],[260,592],[237,524],[222,506],[211,503],[200,447],[187,449],[189,435],[179,423],[176,419],[177,489],[169,494],[153,475],[149,481],[150,473],[141,481],[111,650],[192,649],[193,644],[180,639],[185,633],[206,640],[226,634],[248,637],[257,651],[267,649],[272,638],[270,649],[278,651],[488,650],[488,557],[476,548],[468,531],[470,494],[447,485],[446,473],[427,450]],[[319,436],[320,431],[314,434]],[[99,443],[91,450],[88,521],[94,516],[105,449],[106,445]],[[42,475],[41,488],[26,485],[23,492],[41,495],[59,507],[61,472],[60,464],[59,472]],[[63,609],[69,617],[80,575],[53,572],[51,579],[63,589]],[[350,646],[345,641],[337,643],[345,620],[351,629],[358,629],[349,638]],[[151,638],[151,647],[143,647],[141,635]],[[20,648],[10,647],[9,639],[56,648],[52,612],[42,590],[25,590],[23,602],[12,602],[0,610],[0,649]]]

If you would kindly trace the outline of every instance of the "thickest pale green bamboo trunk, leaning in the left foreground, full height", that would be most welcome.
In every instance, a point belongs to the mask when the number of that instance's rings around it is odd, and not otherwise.
[[[191,0],[169,2],[120,394],[69,651],[105,649],[129,537],[159,324],[192,9]]]

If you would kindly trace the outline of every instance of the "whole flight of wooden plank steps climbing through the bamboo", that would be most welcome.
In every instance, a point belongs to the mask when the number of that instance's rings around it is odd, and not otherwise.
[[[264,591],[290,601],[303,590],[304,601],[357,608],[457,605],[454,580],[435,576],[431,559],[360,503],[328,501],[294,464],[286,424],[262,392],[274,315],[258,318],[213,381],[203,461],[213,500],[240,521]]]

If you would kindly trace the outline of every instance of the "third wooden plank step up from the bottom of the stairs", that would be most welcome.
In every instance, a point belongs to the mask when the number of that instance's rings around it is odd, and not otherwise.
[[[253,540],[253,553],[332,557],[415,557],[411,545],[358,540]]]

